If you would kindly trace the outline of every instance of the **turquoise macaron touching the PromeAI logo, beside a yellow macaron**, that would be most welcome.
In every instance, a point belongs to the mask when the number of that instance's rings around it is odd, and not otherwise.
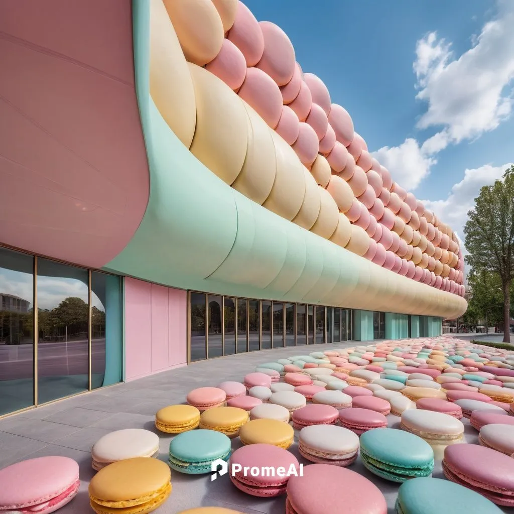
[[[170,443],[168,464],[180,473],[211,472],[211,463],[228,461],[232,449],[230,437],[215,430],[190,430],[176,435]]]

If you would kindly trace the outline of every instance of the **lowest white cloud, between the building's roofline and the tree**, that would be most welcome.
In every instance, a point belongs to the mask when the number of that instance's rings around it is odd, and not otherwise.
[[[474,170],[466,170],[464,178],[457,182],[452,188],[448,197],[444,200],[421,200],[425,207],[434,212],[440,219],[457,233],[461,241],[461,248],[464,250],[464,225],[468,219],[468,211],[474,207],[474,199],[479,195],[480,188],[489,186],[495,180],[501,178],[506,169],[512,166],[511,163],[503,166],[491,166],[485,164]]]

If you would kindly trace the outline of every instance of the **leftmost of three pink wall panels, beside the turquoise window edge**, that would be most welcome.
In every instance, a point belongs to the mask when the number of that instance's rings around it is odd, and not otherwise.
[[[152,284],[125,279],[125,377],[152,373]]]

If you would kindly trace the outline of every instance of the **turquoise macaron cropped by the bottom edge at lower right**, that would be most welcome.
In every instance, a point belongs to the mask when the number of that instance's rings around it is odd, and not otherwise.
[[[398,489],[397,514],[499,514],[503,512],[482,494],[449,480],[422,477],[403,482]]]

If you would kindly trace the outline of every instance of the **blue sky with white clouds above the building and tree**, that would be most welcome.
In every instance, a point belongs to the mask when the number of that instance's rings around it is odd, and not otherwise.
[[[480,187],[514,162],[514,0],[245,3],[287,33],[400,185],[464,237]]]

